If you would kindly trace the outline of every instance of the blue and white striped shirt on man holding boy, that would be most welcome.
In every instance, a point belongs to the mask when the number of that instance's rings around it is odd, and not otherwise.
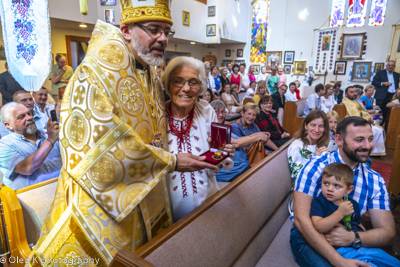
[[[344,163],[339,150],[312,158],[300,171],[296,180],[295,191],[303,192],[312,197],[319,196],[322,171],[326,165],[334,162]],[[361,216],[369,209],[390,210],[389,194],[383,177],[371,170],[366,163],[359,163],[353,172],[354,190],[349,194],[349,198],[358,203]],[[291,217],[293,218],[293,214]]]

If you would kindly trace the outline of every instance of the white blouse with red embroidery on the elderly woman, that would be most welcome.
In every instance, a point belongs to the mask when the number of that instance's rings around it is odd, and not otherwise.
[[[211,135],[212,122],[217,122],[214,109],[205,100],[200,99],[194,106],[192,127],[189,136],[184,138],[184,142],[179,142],[178,138],[171,133],[169,124],[167,124],[167,150],[172,154],[191,153],[195,156],[208,151],[207,138]],[[178,129],[185,126],[186,123],[187,117],[184,119],[174,118],[174,124]],[[233,161],[227,158],[218,165],[218,170],[221,167],[229,170],[233,168]],[[174,222],[219,191],[215,178],[216,173],[213,170],[205,169],[196,172],[167,174],[168,193]]]

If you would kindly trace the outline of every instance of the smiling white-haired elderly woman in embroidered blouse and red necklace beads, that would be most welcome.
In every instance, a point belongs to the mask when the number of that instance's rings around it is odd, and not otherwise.
[[[207,90],[204,66],[192,57],[172,59],[162,83],[171,96],[166,103],[168,114],[167,149],[171,153],[191,153],[201,155],[209,150],[207,140],[211,132],[211,123],[217,122],[214,109],[199,96]],[[234,146],[225,145],[226,152],[233,152]],[[233,167],[230,158],[218,164],[218,169]],[[218,192],[215,171],[173,172],[167,174],[172,217],[179,220],[188,212]]]

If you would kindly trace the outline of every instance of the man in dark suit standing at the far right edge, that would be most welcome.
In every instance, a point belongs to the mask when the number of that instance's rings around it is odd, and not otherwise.
[[[387,103],[391,101],[396,89],[399,87],[400,74],[394,72],[395,66],[395,62],[389,60],[386,63],[386,69],[378,71],[372,80],[372,85],[376,88],[376,104],[381,108],[383,118],[386,117]]]

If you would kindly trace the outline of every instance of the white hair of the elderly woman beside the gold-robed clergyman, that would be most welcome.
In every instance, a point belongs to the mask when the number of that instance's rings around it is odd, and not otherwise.
[[[198,79],[201,82],[199,95],[203,95],[207,91],[207,78],[204,64],[193,57],[176,57],[168,63],[164,74],[161,76],[161,82],[164,85],[165,92],[168,95],[171,95],[169,92],[169,81],[171,80],[171,75],[177,68],[183,67],[194,69],[197,72]]]

